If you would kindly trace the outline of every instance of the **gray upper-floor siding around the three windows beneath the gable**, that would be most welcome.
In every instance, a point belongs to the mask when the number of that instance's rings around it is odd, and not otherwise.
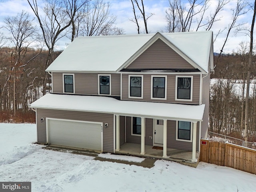
[[[132,74],[131,74],[132,75]],[[155,102],[171,102],[171,103],[191,103],[199,104],[200,98],[200,75],[193,75],[193,95],[192,101],[176,101],[176,76],[179,74],[167,75],[167,100],[151,99],[151,76],[152,74],[143,74],[143,99],[128,98],[129,74],[122,74],[122,100],[140,100]],[[183,75],[182,75],[183,76]],[[190,75],[191,76],[191,75]]]

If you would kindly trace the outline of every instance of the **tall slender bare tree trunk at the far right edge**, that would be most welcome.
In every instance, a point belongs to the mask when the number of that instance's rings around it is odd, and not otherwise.
[[[248,141],[248,115],[249,115],[249,92],[250,92],[250,79],[251,79],[251,66],[252,66],[252,49],[253,49],[253,30],[256,15],[256,0],[254,1],[252,25],[250,30],[250,50],[248,60],[248,71],[247,71],[247,85],[246,85],[246,98],[245,98],[245,123],[244,123],[244,140]],[[247,143],[246,143],[247,146]]]

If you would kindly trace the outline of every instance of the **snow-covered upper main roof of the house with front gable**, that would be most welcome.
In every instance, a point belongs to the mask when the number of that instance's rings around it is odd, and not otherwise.
[[[208,72],[211,31],[77,37],[46,71],[117,72],[143,46],[158,38],[167,40],[189,63]]]

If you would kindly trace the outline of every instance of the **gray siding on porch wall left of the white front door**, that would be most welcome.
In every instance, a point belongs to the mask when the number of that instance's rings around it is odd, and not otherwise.
[[[141,144],[141,137],[132,135],[132,118],[126,116],[126,142]],[[145,145],[153,145],[153,140],[149,136],[153,136],[153,119],[145,118]]]

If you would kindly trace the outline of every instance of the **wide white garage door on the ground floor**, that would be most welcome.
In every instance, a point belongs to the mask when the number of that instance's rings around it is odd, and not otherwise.
[[[48,143],[102,151],[102,124],[47,119]]]

